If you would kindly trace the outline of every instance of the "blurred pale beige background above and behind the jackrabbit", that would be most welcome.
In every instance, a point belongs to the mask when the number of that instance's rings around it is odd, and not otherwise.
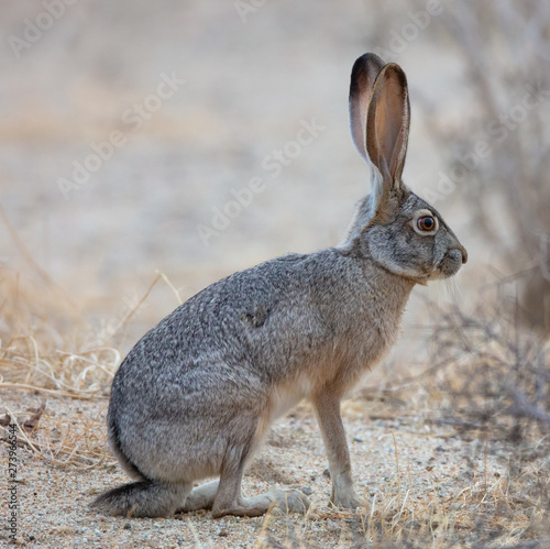
[[[367,51],[408,76],[405,182],[470,252],[457,279],[414,292],[385,372],[424,360],[446,304],[496,298],[548,332],[542,0],[0,10],[0,268],[14,295],[35,292],[18,307],[52,296],[38,322],[67,347],[82,341],[78,317],[90,341],[128,350],[221,276],[338,244],[369,191],[348,127],[350,70]],[[2,323],[4,334],[29,328]]]

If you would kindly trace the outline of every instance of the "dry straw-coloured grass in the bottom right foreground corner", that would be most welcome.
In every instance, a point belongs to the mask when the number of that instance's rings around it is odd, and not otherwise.
[[[450,488],[444,482],[449,474],[437,463],[428,465],[431,482],[421,493],[419,476],[426,473],[400,468],[396,444],[395,474],[378,484],[358,514],[314,507],[287,529],[286,539],[267,535],[255,547],[317,547],[312,535],[327,523],[333,525],[338,547],[531,547],[528,540],[544,547],[550,539],[548,469],[529,463],[502,475],[488,465],[487,442],[483,452],[484,459],[470,459],[463,474],[453,476]]]

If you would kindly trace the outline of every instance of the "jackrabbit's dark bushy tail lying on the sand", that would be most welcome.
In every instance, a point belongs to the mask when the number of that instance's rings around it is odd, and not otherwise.
[[[166,517],[183,507],[193,484],[141,481],[101,494],[91,507],[106,515]]]

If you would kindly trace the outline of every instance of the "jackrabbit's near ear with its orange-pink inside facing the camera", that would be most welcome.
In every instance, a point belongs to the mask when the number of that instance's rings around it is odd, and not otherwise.
[[[380,72],[366,111],[366,153],[382,176],[378,184],[398,190],[407,154],[410,125],[409,96],[405,73],[395,63]]]

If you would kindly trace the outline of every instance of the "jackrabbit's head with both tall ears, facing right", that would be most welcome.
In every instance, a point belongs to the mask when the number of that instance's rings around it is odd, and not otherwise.
[[[350,122],[355,146],[371,166],[371,194],[359,202],[344,245],[420,284],[455,274],[466,250],[438,211],[402,180],[410,109],[398,65],[374,54],[355,62]]]

